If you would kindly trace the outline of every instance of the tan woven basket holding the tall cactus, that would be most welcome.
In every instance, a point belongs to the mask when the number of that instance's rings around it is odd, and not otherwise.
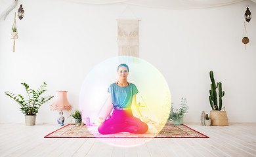
[[[228,126],[226,111],[211,111],[210,117],[212,126]]]

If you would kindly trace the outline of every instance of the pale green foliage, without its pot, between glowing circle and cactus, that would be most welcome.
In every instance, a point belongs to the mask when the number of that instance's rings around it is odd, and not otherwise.
[[[179,118],[182,118],[184,114],[188,113],[188,105],[186,105],[187,101],[186,98],[182,97],[181,104],[179,104],[179,109],[174,109],[173,106],[171,106],[171,111],[169,114],[169,120],[177,120]]]

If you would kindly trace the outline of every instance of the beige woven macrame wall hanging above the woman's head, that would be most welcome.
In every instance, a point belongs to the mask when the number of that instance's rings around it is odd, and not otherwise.
[[[118,56],[139,57],[139,20],[117,20]]]

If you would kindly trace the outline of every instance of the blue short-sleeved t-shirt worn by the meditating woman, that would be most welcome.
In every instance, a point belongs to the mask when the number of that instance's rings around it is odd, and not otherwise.
[[[113,83],[108,87],[108,92],[111,93],[114,109],[120,109],[131,107],[133,95],[137,94],[139,91],[137,86],[132,83],[125,87],[121,87],[116,83]]]

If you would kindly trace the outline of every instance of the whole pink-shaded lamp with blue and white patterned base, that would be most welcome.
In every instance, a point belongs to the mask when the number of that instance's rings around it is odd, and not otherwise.
[[[67,92],[68,91],[56,91],[55,101],[51,105],[51,110],[59,111],[60,116],[57,118],[57,121],[60,126],[64,126],[65,121],[62,110],[70,111],[72,109],[72,106],[68,103]]]

